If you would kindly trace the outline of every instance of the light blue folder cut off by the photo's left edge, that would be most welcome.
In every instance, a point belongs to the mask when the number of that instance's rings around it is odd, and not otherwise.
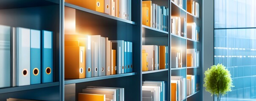
[[[11,86],[11,27],[0,25],[0,88]]]

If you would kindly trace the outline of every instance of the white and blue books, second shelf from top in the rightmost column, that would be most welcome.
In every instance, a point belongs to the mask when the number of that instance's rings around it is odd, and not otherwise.
[[[195,22],[187,23],[187,38],[199,41],[200,27]]]

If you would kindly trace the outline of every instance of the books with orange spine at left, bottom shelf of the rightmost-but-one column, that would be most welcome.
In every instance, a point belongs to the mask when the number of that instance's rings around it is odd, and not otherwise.
[[[182,101],[186,98],[186,78],[171,76],[171,101]]]

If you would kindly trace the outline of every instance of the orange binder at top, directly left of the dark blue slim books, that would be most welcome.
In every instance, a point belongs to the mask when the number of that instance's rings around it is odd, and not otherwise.
[[[144,24],[144,25],[146,25],[146,26],[148,26],[148,27],[151,27],[151,6],[152,6],[151,0],[142,1],[142,20],[143,20],[143,21],[147,21],[147,23]],[[143,17],[143,15],[145,15],[145,11],[144,11],[144,10],[146,9],[146,8],[143,8],[143,7],[148,8],[148,10],[146,10],[146,17],[147,17],[148,20],[146,20],[146,19]],[[144,12],[143,12],[143,11],[144,11]],[[142,24],[143,24],[143,21],[142,21]]]

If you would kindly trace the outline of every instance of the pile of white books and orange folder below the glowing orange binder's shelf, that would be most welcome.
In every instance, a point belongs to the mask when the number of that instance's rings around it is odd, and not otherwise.
[[[124,88],[88,86],[78,93],[78,101],[124,101]]]

